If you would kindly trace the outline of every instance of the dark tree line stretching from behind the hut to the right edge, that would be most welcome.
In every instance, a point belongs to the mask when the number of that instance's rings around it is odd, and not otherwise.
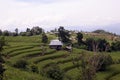
[[[64,27],[58,28],[58,37],[63,43],[72,44],[76,48],[86,49],[94,52],[110,52],[120,50],[120,41],[112,42],[111,44],[102,38],[90,37],[83,40],[83,34],[81,32],[76,33],[77,43],[72,43],[70,40],[70,31],[65,30]]]

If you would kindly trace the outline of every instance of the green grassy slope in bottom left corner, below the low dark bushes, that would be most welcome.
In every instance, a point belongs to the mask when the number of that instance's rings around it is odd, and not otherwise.
[[[40,74],[27,72],[24,70],[6,66],[4,80],[49,80],[49,79],[42,77]]]

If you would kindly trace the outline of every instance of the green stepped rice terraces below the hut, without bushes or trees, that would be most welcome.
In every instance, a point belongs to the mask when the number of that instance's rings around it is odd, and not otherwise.
[[[76,48],[74,48],[73,52],[71,53],[65,50],[56,51],[54,49],[50,49],[48,45],[46,45],[46,50],[43,55],[40,47],[41,43],[38,38],[39,37],[35,37],[35,39],[31,40],[31,42],[27,42],[28,39],[32,39],[29,37],[26,38],[27,40],[25,40],[25,42],[23,40],[19,40],[19,38],[16,38],[16,42],[12,42],[14,39],[10,41],[10,39],[7,38],[9,46],[4,47],[6,61],[5,80],[49,80],[40,73],[19,70],[11,66],[11,64],[22,58],[28,61],[29,64],[36,64],[39,68],[39,71],[49,67],[50,64],[56,63],[65,72],[65,75],[69,76],[71,80],[77,80],[77,78],[80,76],[80,70],[78,70],[73,64],[73,58],[79,57],[82,52],[85,52],[86,54],[92,52]],[[24,39],[24,37],[20,39]],[[38,41],[34,42],[36,39]],[[112,57],[117,60],[120,59],[120,56],[118,56],[119,54],[120,52],[111,53]],[[106,72],[97,73],[96,78],[97,80],[119,80],[120,64],[114,64],[110,66],[109,70]]]

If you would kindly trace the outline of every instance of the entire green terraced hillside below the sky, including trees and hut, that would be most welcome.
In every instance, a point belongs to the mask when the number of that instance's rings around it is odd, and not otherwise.
[[[40,34],[33,31],[34,35],[22,33],[3,32],[1,36],[1,42],[5,41],[1,53],[3,80],[120,79],[119,35],[104,30],[68,31],[64,27]]]

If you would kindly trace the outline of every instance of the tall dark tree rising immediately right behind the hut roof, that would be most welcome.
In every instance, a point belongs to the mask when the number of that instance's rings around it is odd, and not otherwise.
[[[63,43],[70,42],[70,34],[69,31],[65,30],[64,27],[60,26],[58,29],[58,37]]]

